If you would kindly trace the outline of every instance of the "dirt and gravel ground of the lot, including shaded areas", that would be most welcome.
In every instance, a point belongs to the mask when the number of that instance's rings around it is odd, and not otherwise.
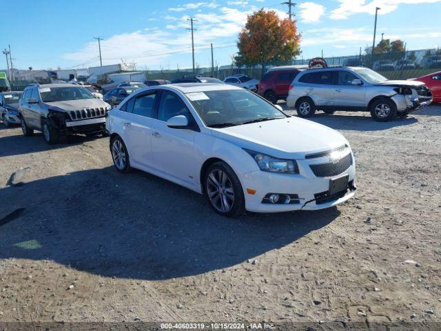
[[[356,198],[238,219],[119,174],[107,138],[50,147],[3,128],[0,321],[440,322],[441,107],[314,121],[351,143]]]

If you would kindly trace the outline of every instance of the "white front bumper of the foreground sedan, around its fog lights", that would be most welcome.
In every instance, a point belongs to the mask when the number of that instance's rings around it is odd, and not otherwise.
[[[298,161],[300,174],[274,174],[260,170],[242,174],[240,182],[245,194],[245,209],[250,212],[320,210],[338,205],[353,197],[356,190],[355,161],[347,170],[334,177],[316,177],[309,167],[314,163],[320,163],[320,159]],[[329,190],[330,179],[345,175],[349,176],[347,189],[333,196],[323,197],[323,194]],[[247,188],[255,190],[256,193],[249,194]],[[298,203],[263,203],[263,199],[269,193],[296,194]],[[319,198],[320,194],[321,198]]]

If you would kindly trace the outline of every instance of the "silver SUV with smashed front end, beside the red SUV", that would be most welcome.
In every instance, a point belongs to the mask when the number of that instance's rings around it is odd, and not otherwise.
[[[299,117],[316,110],[368,111],[376,121],[405,116],[432,102],[432,93],[420,81],[389,81],[363,67],[318,68],[300,72],[289,87],[287,106]]]

